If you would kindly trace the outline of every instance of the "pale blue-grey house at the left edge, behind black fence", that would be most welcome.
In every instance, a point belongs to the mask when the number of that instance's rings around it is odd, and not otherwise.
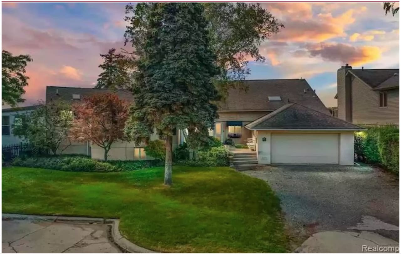
[[[3,145],[13,145],[21,142],[26,142],[24,139],[20,139],[19,137],[14,136],[12,133],[12,124],[16,119],[18,119],[18,115],[28,113],[32,110],[35,110],[38,106],[27,106],[27,107],[15,107],[10,109],[2,109],[2,141]]]

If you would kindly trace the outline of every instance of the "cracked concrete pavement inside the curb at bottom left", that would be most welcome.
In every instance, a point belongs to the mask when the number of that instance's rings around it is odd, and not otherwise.
[[[107,224],[2,221],[2,253],[116,253]]]

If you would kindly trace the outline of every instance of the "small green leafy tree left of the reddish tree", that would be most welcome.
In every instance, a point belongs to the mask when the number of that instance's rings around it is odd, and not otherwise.
[[[53,154],[57,154],[59,147],[65,142],[68,144],[60,152],[71,145],[68,133],[72,120],[69,104],[57,101],[47,104],[40,102],[36,110],[18,115],[12,125],[12,132],[36,147],[50,149]]]

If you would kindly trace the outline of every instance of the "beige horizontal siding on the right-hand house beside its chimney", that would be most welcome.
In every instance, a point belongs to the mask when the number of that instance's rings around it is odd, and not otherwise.
[[[352,123],[399,125],[399,90],[387,91],[387,107],[379,107],[379,92],[354,78],[352,80]],[[339,114],[340,115],[340,114]]]

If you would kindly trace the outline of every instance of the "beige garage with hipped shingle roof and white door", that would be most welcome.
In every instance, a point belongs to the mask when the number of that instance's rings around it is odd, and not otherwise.
[[[354,165],[354,132],[364,130],[298,103],[245,128],[252,131],[258,164]]]

